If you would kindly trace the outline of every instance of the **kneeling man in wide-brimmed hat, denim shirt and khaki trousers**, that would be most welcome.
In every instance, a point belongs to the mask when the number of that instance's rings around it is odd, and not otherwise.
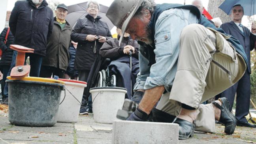
[[[114,0],[106,15],[140,45],[134,90],[145,94],[127,120],[147,121],[152,114],[151,121],[178,123],[180,139],[192,137],[195,129],[214,132],[215,120],[225,125],[225,133],[234,132],[226,98],[200,102],[243,76],[248,61],[237,39],[216,29],[195,6]]]

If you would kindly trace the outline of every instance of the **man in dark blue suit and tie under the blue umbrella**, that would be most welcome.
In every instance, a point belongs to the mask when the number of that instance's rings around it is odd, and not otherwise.
[[[253,50],[256,39],[256,24],[252,24],[252,32],[245,26],[241,25],[244,15],[241,5],[233,6],[231,13],[231,22],[222,24],[220,27],[227,33],[237,38],[243,46],[247,59],[250,65],[250,50]],[[238,126],[256,127],[247,122],[245,116],[248,115],[250,106],[250,73],[251,69],[248,66],[243,77],[232,87],[222,92],[222,97],[227,97],[230,102],[230,111],[232,110],[235,93],[237,94],[235,117]]]

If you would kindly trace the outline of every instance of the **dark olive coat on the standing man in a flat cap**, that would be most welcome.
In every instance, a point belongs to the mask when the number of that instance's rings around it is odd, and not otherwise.
[[[69,61],[70,34],[72,28],[68,22],[64,28],[54,18],[53,33],[47,43],[46,56],[43,58],[42,65],[51,66],[66,71]]]

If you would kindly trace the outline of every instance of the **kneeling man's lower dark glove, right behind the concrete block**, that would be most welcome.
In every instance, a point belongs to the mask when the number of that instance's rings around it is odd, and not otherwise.
[[[136,108],[135,112],[133,112],[127,120],[131,121],[147,121],[149,118],[149,115],[146,112],[143,112],[139,109],[139,107]]]

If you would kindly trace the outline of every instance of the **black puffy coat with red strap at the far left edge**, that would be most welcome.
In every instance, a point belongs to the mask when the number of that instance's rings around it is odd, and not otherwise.
[[[6,44],[4,43],[4,39],[6,37],[6,32],[8,28],[4,28],[4,30],[0,34],[0,49],[2,50],[3,54],[0,60],[0,66],[1,65],[11,65],[11,59],[13,50],[9,48],[11,44],[13,44],[14,37],[11,34],[11,31],[9,32],[9,35],[7,37]]]

